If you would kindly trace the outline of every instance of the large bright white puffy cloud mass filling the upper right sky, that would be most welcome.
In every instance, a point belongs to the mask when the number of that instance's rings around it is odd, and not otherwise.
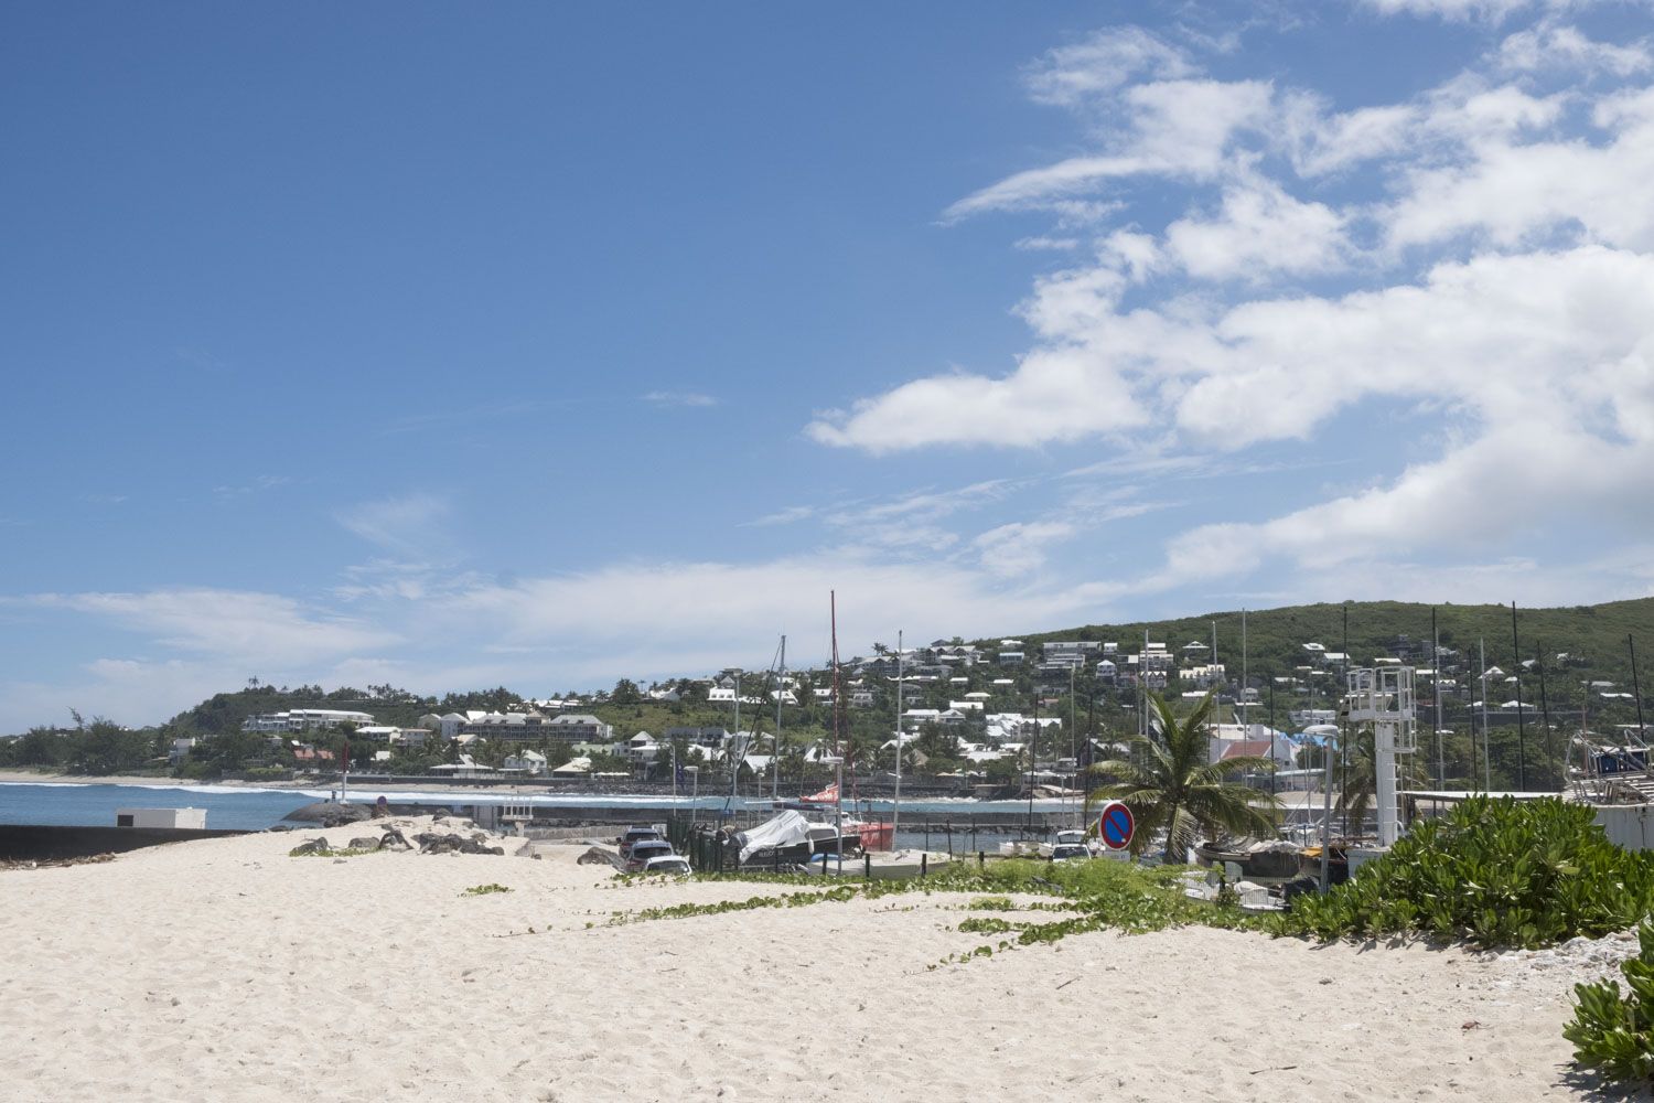
[[[1434,88],[1351,109],[1279,78],[1212,79],[1148,33],[1050,51],[1029,93],[1073,111],[1090,149],[944,218],[1045,210],[1072,225],[1059,205],[1100,203],[1093,253],[1035,278],[1017,306],[1032,341],[1009,370],[923,374],[809,435],[873,455],[1095,440],[1130,466],[1275,442],[1327,453],[1328,425],[1363,408],[1441,425],[1356,489],[1174,536],[1138,592],[1269,561],[1297,577],[1411,556],[1535,577],[1502,551],[1556,518],[1654,536],[1628,509],[1654,460],[1647,41],[1593,40],[1565,21],[1568,3],[1371,7],[1532,20]],[[1128,202],[1128,180],[1159,185],[1156,217]],[[971,547],[1006,574],[1059,539],[1032,524]]]

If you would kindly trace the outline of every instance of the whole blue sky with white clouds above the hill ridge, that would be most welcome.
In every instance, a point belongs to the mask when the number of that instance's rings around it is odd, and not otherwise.
[[[0,731],[1654,592],[1642,2],[0,15]]]

